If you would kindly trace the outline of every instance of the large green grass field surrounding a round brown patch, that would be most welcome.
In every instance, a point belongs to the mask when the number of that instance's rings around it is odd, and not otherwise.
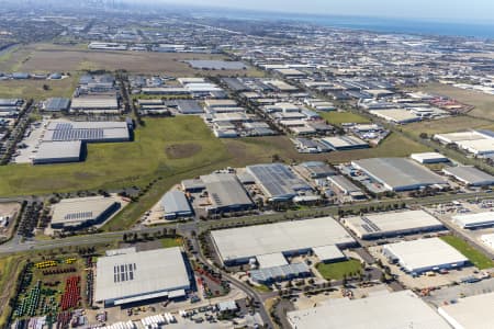
[[[167,147],[186,143],[198,145],[199,151],[168,158]],[[89,145],[85,162],[0,167],[0,195],[144,186],[157,177],[162,178],[160,184],[169,185],[179,182],[173,177],[194,177],[222,168],[228,160],[225,146],[199,117],[147,120],[135,132],[134,143]]]

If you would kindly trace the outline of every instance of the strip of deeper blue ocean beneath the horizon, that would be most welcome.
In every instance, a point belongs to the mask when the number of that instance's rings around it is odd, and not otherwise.
[[[246,20],[297,21],[329,27],[366,30],[383,33],[468,36],[494,39],[493,23],[458,23],[418,19],[383,19],[366,16],[310,15],[252,11],[215,11],[214,16]]]

